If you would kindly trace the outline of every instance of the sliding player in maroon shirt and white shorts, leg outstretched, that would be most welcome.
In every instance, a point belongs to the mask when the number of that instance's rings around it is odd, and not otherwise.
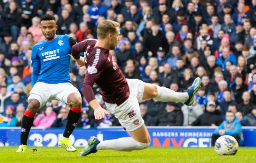
[[[110,112],[118,118],[122,127],[131,137],[99,141],[91,137],[80,156],[96,153],[98,150],[114,149],[116,151],[134,151],[146,149],[150,144],[150,136],[140,115],[138,102],[154,98],[158,101],[183,102],[192,105],[194,95],[201,86],[200,78],[196,78],[186,92],[175,92],[165,87],[144,83],[138,79],[125,79],[122,71],[109,53],[115,49],[119,41],[119,24],[111,20],[103,20],[98,24],[96,39],[88,39],[72,47],[72,56],[78,66],[86,65],[87,72],[82,85],[86,101],[94,109],[96,120],[104,118],[108,112],[98,104],[92,86],[100,87],[100,94]],[[84,58],[80,53],[84,52]]]

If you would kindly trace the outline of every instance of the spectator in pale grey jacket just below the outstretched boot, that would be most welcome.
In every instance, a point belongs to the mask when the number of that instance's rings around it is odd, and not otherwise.
[[[204,108],[200,104],[197,104],[196,100],[192,106],[183,105],[181,107],[184,116],[183,126],[191,125],[200,115],[204,113]]]

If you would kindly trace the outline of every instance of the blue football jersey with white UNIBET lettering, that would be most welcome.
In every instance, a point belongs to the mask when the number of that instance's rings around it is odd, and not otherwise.
[[[32,48],[31,65],[39,67],[40,74],[36,82],[58,84],[70,82],[71,47],[70,35],[56,35],[54,39],[42,40]]]

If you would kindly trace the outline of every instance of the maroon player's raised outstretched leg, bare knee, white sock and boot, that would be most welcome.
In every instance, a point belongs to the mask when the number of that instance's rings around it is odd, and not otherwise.
[[[144,83],[143,100],[154,98],[162,102],[182,102],[188,106],[194,102],[194,95],[201,86],[201,79],[196,78],[192,86],[186,92],[175,92],[164,86],[157,86],[155,84]]]

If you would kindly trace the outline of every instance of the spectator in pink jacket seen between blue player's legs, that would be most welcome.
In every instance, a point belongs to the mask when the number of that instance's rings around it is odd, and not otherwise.
[[[50,128],[56,119],[56,113],[51,106],[48,106],[44,112],[39,114],[34,120],[34,126],[40,128]]]

